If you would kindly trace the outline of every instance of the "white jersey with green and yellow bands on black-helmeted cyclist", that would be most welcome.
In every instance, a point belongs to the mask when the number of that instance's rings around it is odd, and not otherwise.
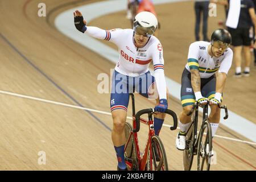
[[[233,51],[228,48],[220,57],[211,57],[208,53],[209,42],[194,42],[189,46],[188,63],[185,68],[191,72],[191,69],[199,69],[201,78],[209,78],[214,73],[228,71],[232,65]]]

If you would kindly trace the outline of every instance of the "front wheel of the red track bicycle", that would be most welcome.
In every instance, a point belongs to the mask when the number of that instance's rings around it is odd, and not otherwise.
[[[168,171],[166,151],[161,139],[154,135],[151,137],[152,144],[152,168],[155,171]]]

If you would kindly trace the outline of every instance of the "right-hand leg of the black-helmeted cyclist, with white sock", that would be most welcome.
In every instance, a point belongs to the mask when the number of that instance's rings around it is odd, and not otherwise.
[[[208,100],[215,96],[216,90],[216,77],[212,76],[208,79],[206,84],[202,88],[203,96],[207,97]],[[218,123],[220,122],[220,108],[217,105],[210,105],[210,114],[208,117],[210,127],[212,128],[212,137],[218,129]]]

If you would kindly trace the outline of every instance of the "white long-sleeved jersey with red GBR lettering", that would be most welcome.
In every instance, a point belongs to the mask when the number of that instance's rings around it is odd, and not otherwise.
[[[142,75],[148,72],[148,67],[153,61],[159,98],[166,99],[163,48],[158,38],[151,36],[144,47],[137,48],[134,44],[134,31],[132,29],[108,31],[98,27],[87,27],[85,34],[108,40],[118,46],[119,59],[115,65],[115,71],[123,75],[132,77]]]

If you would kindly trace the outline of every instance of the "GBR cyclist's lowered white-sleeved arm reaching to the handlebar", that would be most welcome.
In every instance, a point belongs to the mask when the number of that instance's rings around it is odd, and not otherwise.
[[[152,60],[155,71],[156,88],[158,89],[159,99],[167,99],[166,96],[166,78],[164,77],[164,59],[163,50],[160,42],[152,45]]]

